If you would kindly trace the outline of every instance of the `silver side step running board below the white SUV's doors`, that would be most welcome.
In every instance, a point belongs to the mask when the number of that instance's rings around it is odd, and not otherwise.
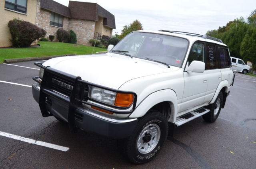
[[[194,112],[184,114],[177,118],[174,125],[175,125],[175,127],[181,126],[182,124],[185,124],[186,122],[194,120],[195,118],[198,118],[199,116],[202,116],[208,112],[210,112],[210,109],[200,108],[198,110],[195,110]]]

